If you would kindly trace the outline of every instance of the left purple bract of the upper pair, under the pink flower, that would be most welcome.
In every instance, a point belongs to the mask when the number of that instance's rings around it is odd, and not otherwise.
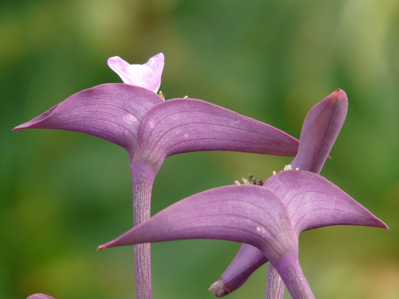
[[[144,115],[163,100],[154,92],[122,83],[103,84],[75,93],[13,130],[38,128],[77,131],[103,138],[131,155]]]

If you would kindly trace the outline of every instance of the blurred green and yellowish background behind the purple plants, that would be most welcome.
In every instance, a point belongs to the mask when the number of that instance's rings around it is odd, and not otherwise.
[[[0,298],[134,298],[133,248],[95,251],[132,226],[127,153],[82,133],[11,129],[75,92],[121,82],[109,57],[145,63],[159,52],[167,98],[206,100],[296,138],[310,107],[347,92],[346,123],[321,174],[391,230],[304,232],[300,262],[317,298],[399,298],[399,1],[8,0],[0,38]],[[168,157],[152,214],[290,161]],[[154,298],[213,298],[207,288],[239,246],[154,244]],[[263,298],[266,273],[228,297]]]

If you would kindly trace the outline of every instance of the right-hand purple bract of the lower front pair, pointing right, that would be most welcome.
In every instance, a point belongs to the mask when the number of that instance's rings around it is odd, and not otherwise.
[[[280,171],[263,186],[287,206],[297,234],[329,225],[387,228],[369,210],[324,177],[302,170]]]

